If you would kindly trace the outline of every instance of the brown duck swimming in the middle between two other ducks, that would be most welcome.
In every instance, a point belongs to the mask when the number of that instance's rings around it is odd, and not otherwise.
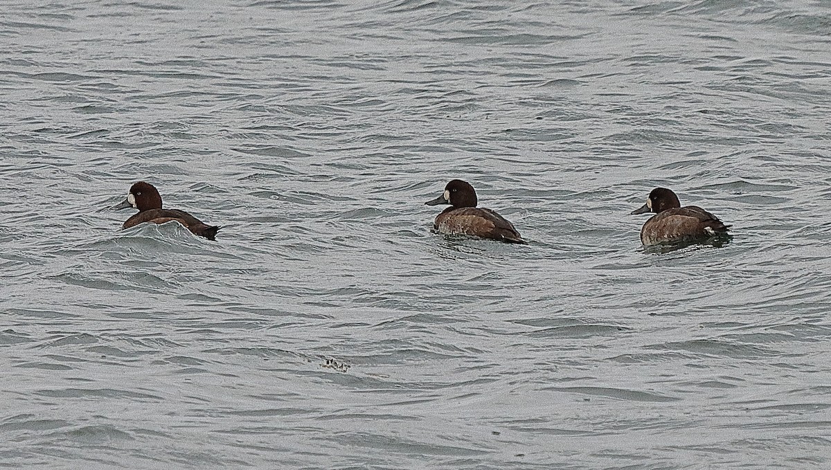
[[[470,183],[453,179],[445,186],[438,198],[427,201],[428,206],[450,204],[435,218],[433,228],[448,235],[473,235],[508,243],[523,243],[525,240],[501,215],[488,208],[477,208],[479,201],[476,190]]]

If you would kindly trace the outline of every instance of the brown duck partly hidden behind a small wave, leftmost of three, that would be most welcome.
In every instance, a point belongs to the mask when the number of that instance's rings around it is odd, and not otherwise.
[[[219,225],[202,223],[198,218],[182,210],[161,208],[161,195],[159,194],[159,190],[145,181],[139,181],[133,184],[124,202],[116,205],[112,209],[121,210],[125,208],[137,208],[139,209],[139,213],[128,218],[121,228],[135,227],[145,222],[166,223],[175,220],[181,223],[191,233],[194,233],[194,235],[199,235],[199,237],[205,237],[212,241],[216,240],[216,233],[221,228]]]

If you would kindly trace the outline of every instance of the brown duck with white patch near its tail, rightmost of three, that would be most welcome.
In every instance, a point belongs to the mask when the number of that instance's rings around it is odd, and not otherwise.
[[[666,242],[695,241],[727,234],[725,225],[715,215],[697,206],[681,207],[676,193],[667,188],[655,188],[649,193],[647,203],[632,214],[655,213],[641,228],[644,246]]]

